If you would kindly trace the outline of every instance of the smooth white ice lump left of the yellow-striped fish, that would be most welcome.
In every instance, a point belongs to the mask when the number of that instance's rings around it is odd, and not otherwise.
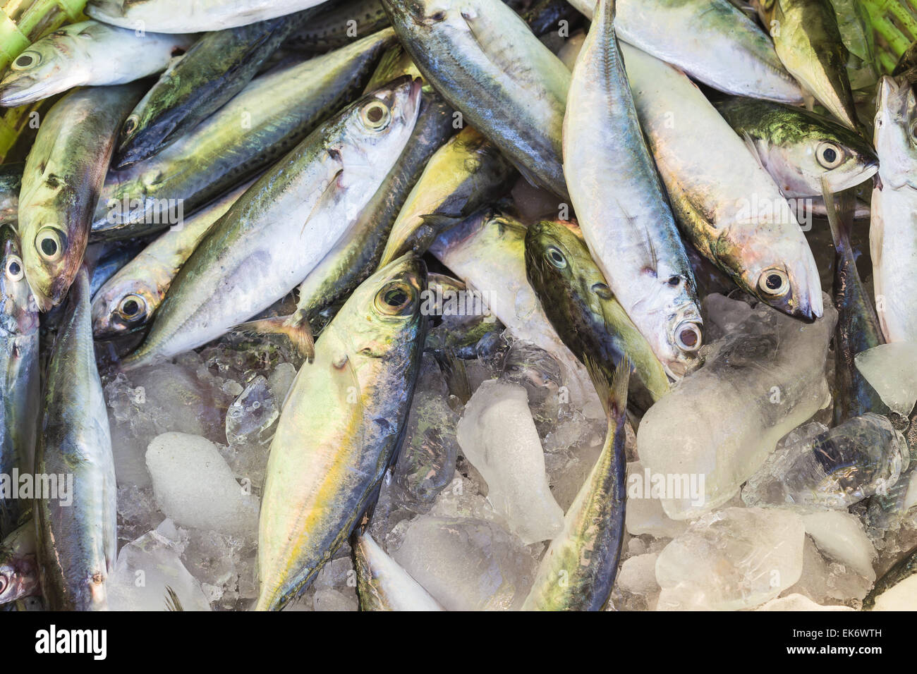
[[[258,503],[201,436],[164,433],[149,443],[147,466],[160,510],[182,526],[256,536]]]

